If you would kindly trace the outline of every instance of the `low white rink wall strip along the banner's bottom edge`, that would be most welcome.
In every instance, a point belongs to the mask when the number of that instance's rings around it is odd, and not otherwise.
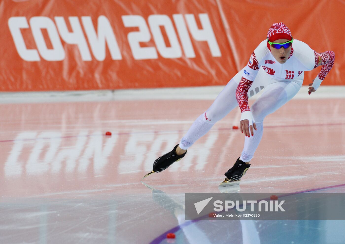
[[[126,90],[0,92],[0,103],[119,100],[214,100],[224,86]],[[257,99],[264,90],[250,99]],[[345,98],[345,86],[322,86],[312,94],[303,86],[293,99]]]

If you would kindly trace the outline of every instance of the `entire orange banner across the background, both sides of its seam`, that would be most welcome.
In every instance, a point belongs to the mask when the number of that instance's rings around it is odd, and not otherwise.
[[[226,84],[283,21],[336,53],[323,84],[343,85],[342,1],[12,0],[0,4],[0,91]],[[305,82],[320,68],[307,72]]]

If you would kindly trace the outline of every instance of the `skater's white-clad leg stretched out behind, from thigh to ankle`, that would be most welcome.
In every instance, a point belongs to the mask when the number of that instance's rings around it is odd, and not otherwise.
[[[179,148],[185,152],[196,140],[205,135],[217,121],[223,119],[238,106],[235,96],[237,85],[233,79],[229,81],[209,109],[201,114],[190,126],[186,135],[181,139],[176,150],[177,153],[181,152]]]

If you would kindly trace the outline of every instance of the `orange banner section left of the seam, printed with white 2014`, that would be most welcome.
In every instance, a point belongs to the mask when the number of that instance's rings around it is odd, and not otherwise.
[[[3,1],[1,91],[219,85],[234,60],[209,0]]]

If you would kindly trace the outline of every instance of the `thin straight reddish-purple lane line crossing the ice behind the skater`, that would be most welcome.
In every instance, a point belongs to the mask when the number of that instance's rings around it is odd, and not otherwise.
[[[265,128],[279,128],[279,127],[305,127],[305,126],[336,126],[336,125],[345,125],[345,123],[334,123],[334,124],[290,124],[290,125],[267,125]],[[232,128],[218,128],[211,129],[210,131],[215,130],[234,130]],[[239,129],[238,129],[239,130]],[[113,133],[117,135],[131,135],[131,134],[151,134],[151,133],[169,133],[169,132],[184,132],[187,130],[173,130],[173,131],[139,131],[139,132],[120,132]],[[0,142],[16,142],[16,141],[31,141],[31,140],[48,140],[48,139],[63,139],[63,138],[77,138],[77,137],[91,137],[91,136],[106,136],[105,134],[91,134],[91,135],[69,135],[69,136],[59,136],[59,137],[42,137],[42,138],[28,138],[28,139],[14,139],[14,140],[0,140]],[[107,135],[109,136],[109,135]]]

